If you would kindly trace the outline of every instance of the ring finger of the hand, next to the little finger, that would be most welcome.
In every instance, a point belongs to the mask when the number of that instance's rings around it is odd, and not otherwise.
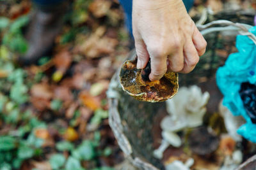
[[[184,68],[180,73],[191,72],[199,61],[198,51],[192,41],[187,41],[184,45]]]

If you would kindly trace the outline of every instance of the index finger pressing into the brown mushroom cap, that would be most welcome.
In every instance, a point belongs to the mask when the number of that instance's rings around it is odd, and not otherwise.
[[[166,55],[164,55],[159,49],[155,50],[148,50],[150,53],[150,66],[151,66],[151,73],[149,74],[148,78],[151,81],[159,80],[164,76],[167,71],[167,64],[166,64]]]

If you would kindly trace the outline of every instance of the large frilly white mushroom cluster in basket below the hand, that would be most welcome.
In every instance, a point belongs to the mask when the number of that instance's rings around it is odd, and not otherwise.
[[[197,127],[203,123],[205,105],[209,97],[209,92],[202,94],[201,89],[196,85],[189,88],[181,87],[176,96],[166,101],[166,109],[173,121],[182,121],[186,127]],[[165,125],[162,126],[165,127]]]

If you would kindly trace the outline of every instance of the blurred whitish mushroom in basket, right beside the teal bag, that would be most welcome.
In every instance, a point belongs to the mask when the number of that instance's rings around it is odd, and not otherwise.
[[[221,100],[219,104],[219,111],[220,115],[224,118],[225,127],[228,131],[228,134],[235,140],[235,141],[241,141],[242,137],[237,134],[237,129],[245,123],[245,120],[243,117],[235,117],[232,115],[230,110],[223,106],[223,101]]]

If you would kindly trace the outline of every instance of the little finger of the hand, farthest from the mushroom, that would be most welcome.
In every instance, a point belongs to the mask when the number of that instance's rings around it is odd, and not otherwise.
[[[199,56],[204,55],[205,49],[206,49],[206,46],[207,46],[207,42],[205,41],[204,37],[198,31],[197,28],[195,28],[192,39],[193,39],[193,43],[195,45],[196,51],[198,52],[198,55]]]

